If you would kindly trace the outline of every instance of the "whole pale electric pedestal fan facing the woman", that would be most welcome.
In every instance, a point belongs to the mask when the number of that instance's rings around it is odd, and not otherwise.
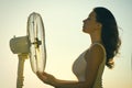
[[[42,18],[38,13],[31,13],[28,19],[28,31],[25,36],[10,40],[10,48],[19,56],[16,88],[23,86],[24,61],[30,57],[31,68],[44,72],[46,63],[45,32]]]

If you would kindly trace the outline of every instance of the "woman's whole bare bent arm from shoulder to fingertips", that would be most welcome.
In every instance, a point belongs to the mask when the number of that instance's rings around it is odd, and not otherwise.
[[[91,88],[97,77],[98,67],[103,58],[102,47],[100,45],[94,45],[86,53],[85,58],[87,62],[85,81],[61,80],[46,73],[37,73],[37,76],[43,82],[52,85],[55,88]]]

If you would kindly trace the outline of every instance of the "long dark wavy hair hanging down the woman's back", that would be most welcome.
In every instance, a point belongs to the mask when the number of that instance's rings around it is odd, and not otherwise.
[[[106,65],[109,68],[113,68],[113,57],[119,53],[119,47],[121,45],[116,19],[106,8],[97,7],[94,11],[96,12],[97,22],[102,24],[101,40],[107,52]]]

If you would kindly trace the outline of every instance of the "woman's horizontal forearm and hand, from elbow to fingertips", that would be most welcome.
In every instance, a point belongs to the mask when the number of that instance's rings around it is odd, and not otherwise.
[[[37,77],[43,82],[54,86],[55,88],[88,88],[85,81],[61,80],[61,79],[56,79],[53,75],[50,75],[47,73],[37,72]]]

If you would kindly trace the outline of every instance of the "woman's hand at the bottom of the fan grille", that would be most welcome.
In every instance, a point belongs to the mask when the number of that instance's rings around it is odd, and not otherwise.
[[[53,75],[50,75],[47,73],[36,73],[37,77],[45,84],[52,85],[55,87],[56,85],[56,78]]]

